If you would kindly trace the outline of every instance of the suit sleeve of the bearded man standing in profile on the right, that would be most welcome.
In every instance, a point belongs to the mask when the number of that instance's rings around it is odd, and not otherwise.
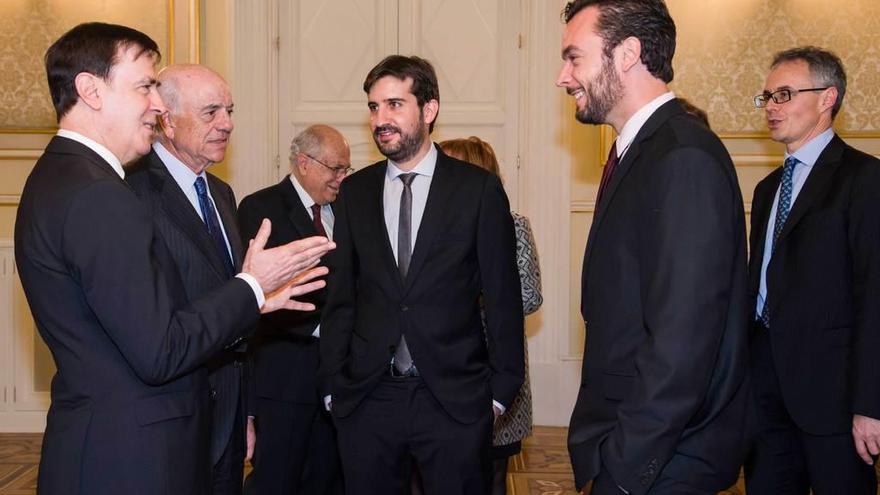
[[[669,461],[703,402],[737,296],[734,277],[744,272],[736,260],[745,262],[741,200],[722,163],[682,148],[651,166],[658,183],[646,192],[651,204],[642,206],[639,229],[648,338],[636,349],[633,394],[601,450],[614,480],[632,493],[644,489],[637,473]]]

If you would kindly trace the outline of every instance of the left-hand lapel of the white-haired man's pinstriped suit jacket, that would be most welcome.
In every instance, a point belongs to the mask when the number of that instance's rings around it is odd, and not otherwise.
[[[226,262],[220,258],[220,253],[214,246],[214,240],[208,234],[205,222],[196,213],[183,191],[174,181],[174,178],[165,168],[165,164],[159,159],[154,151],[150,151],[150,187],[161,199],[160,208],[181,232],[190,238],[193,245],[201,251],[209,261],[211,268],[221,279],[227,278]],[[216,203],[216,202],[215,202]]]

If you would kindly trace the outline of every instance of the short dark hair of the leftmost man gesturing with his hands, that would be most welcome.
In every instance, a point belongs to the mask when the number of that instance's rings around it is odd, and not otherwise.
[[[158,62],[159,46],[146,34],[118,24],[87,22],[64,33],[46,50],[46,77],[58,121],[74,105],[77,74],[87,72],[107,80],[119,62],[120,49],[136,47],[135,58],[148,54]]]

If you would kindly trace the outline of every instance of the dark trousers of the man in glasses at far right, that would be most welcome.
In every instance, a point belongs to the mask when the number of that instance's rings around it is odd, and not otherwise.
[[[874,468],[856,453],[851,433],[810,435],[791,419],[770,351],[771,331],[755,329],[751,346],[758,431],[746,459],[746,491],[749,495],[806,495],[812,488],[814,495],[877,493]]]

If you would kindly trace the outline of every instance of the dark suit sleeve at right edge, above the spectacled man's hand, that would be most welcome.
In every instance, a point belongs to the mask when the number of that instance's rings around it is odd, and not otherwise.
[[[865,159],[849,211],[855,302],[852,409],[880,419],[880,161]]]

